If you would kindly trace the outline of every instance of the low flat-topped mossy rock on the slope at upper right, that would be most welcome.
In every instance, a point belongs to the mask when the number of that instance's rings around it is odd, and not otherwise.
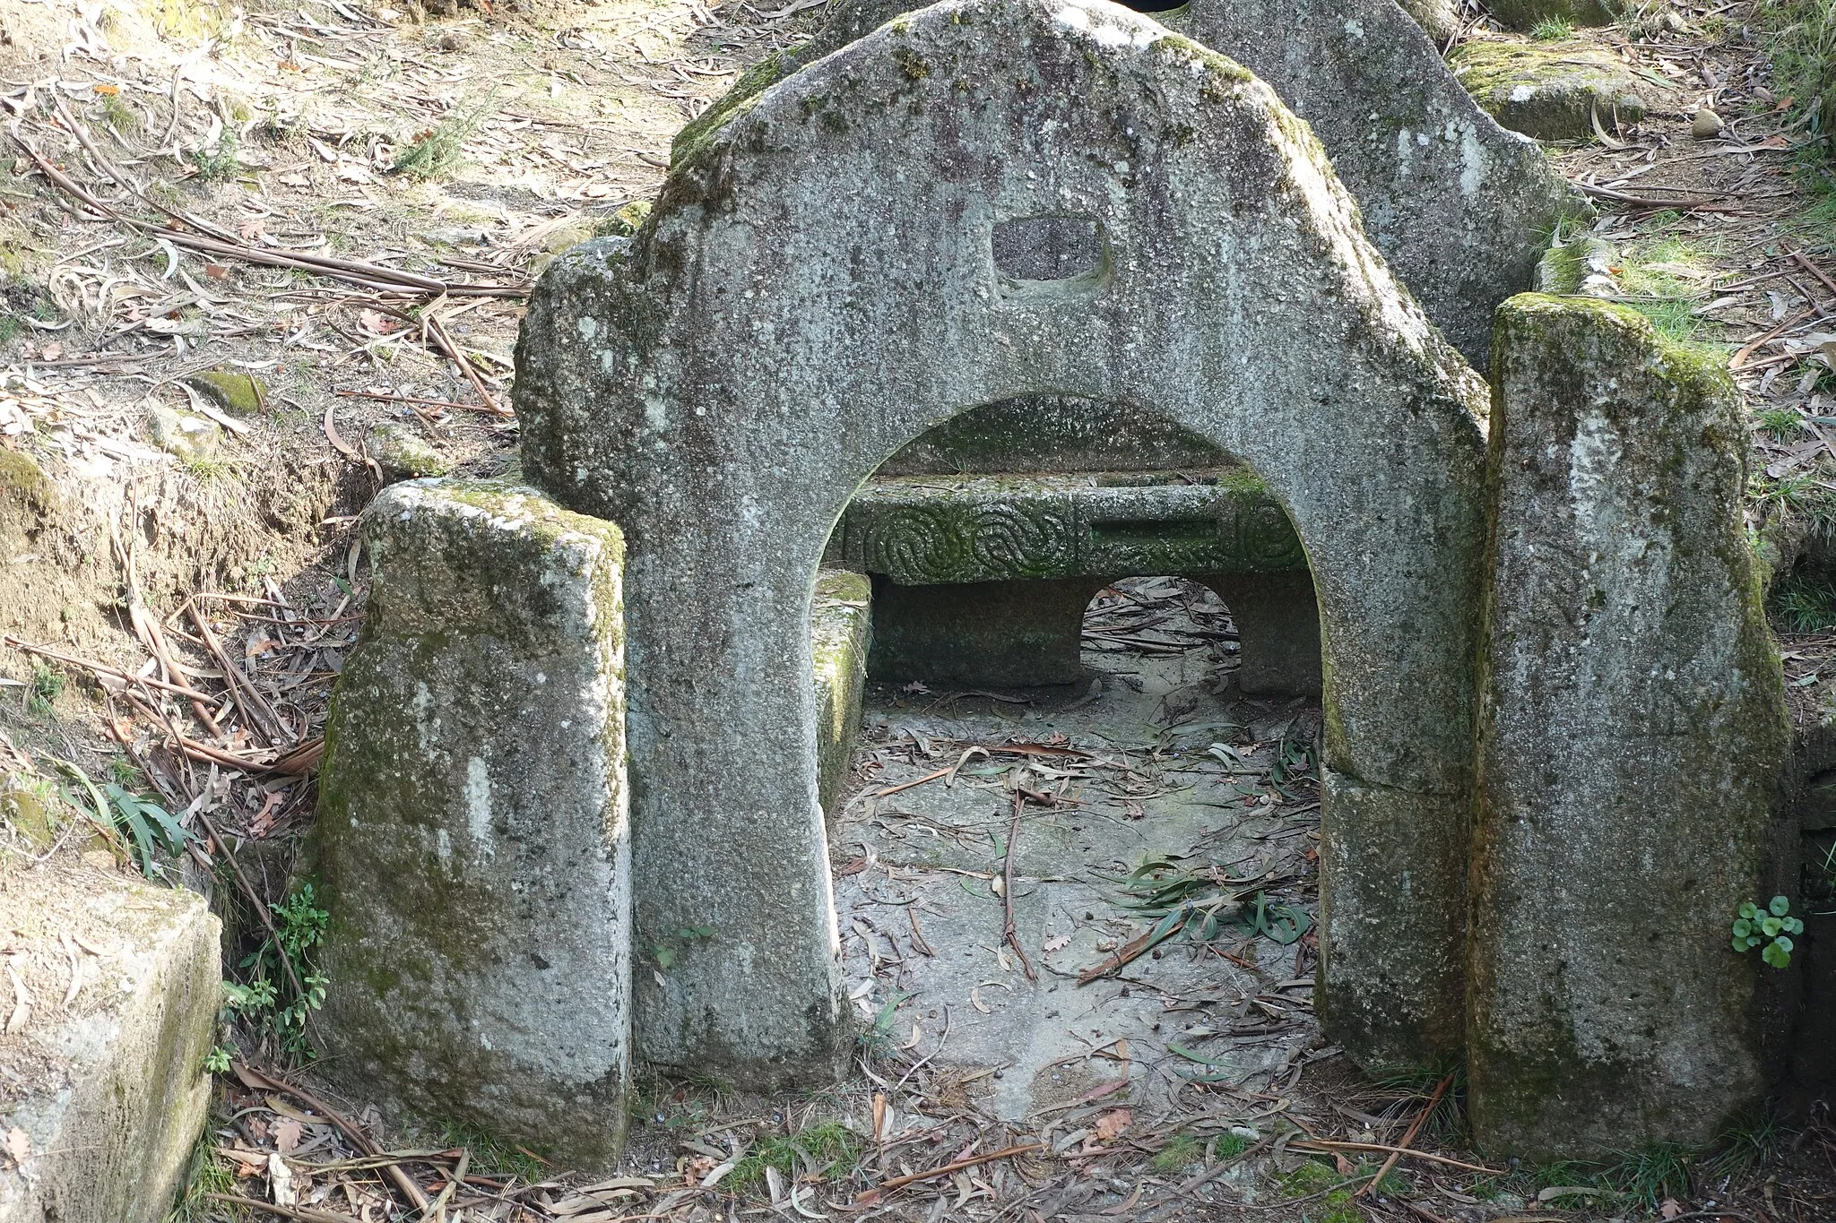
[[[1590,42],[1467,42],[1449,62],[1485,114],[1535,139],[1588,139],[1594,116],[1606,130],[1645,117],[1638,77]]]

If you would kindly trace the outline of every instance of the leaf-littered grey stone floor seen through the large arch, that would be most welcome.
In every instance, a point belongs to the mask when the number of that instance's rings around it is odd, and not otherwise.
[[[1327,1052],[1318,704],[1236,691],[1228,614],[1203,587],[1118,585],[1085,620],[1087,684],[870,684],[832,820],[856,1007],[1004,1120],[1159,1111],[1193,1078],[1274,1091]],[[1002,937],[1015,810],[1024,959]],[[1182,930],[1118,966],[1162,919]]]

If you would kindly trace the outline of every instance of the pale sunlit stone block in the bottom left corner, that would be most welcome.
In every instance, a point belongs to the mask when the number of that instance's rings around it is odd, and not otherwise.
[[[31,1150],[0,1172],[0,1221],[158,1223],[209,1107],[218,922],[195,893],[92,867],[7,871],[0,924],[31,1003],[0,1036],[0,1128]]]

